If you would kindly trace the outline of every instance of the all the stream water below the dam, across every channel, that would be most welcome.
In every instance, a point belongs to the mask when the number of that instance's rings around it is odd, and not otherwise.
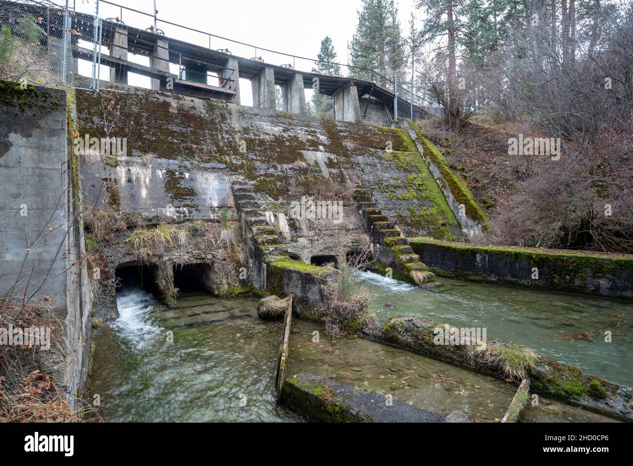
[[[361,277],[381,322],[389,315],[418,315],[453,325],[486,326],[489,336],[528,344],[614,381],[630,380],[632,345],[623,341],[631,325],[630,305],[441,281],[441,287],[422,289],[370,272]],[[107,422],[306,420],[284,406],[275,407],[283,324],[260,320],[257,302],[192,292],[182,294],[178,307],[170,309],[141,289],[120,290],[119,318],[95,336],[91,400],[99,395],[99,415]],[[603,328],[612,329],[613,343],[602,343]],[[595,338],[560,337],[563,332],[593,332]],[[287,377],[310,372],[372,391],[379,403],[384,394],[392,394],[442,415],[465,412],[474,422],[498,422],[517,389],[511,382],[362,338],[332,339],[322,327],[297,319],[290,344]],[[524,422],[609,420],[541,400],[523,413]]]

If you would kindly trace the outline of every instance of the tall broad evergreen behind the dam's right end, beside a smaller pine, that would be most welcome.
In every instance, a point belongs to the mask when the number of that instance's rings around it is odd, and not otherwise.
[[[392,79],[393,73],[404,74],[406,42],[400,31],[398,9],[393,0],[363,0],[351,55],[353,66],[377,71],[387,79]],[[380,82],[361,70],[353,69],[352,75]]]

